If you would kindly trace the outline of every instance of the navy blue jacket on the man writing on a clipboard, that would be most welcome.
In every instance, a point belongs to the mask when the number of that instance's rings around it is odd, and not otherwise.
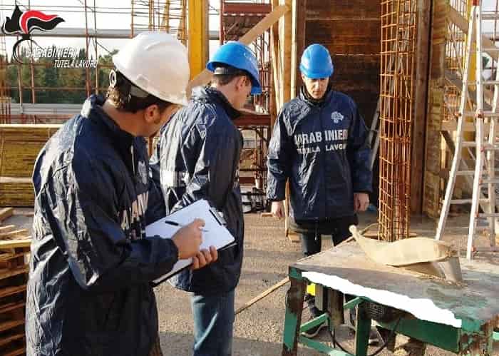
[[[164,216],[145,140],[92,96],[36,159],[26,354],[149,355],[158,337],[152,280],[177,262],[172,240],[145,237]]]

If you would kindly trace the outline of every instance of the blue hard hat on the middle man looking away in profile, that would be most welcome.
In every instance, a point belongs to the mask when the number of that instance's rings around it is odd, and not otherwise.
[[[253,52],[241,42],[229,41],[227,44],[220,46],[215,52],[211,61],[206,65],[208,71],[214,72],[217,64],[228,64],[237,69],[247,71],[251,77],[251,93],[262,93],[262,86],[260,85],[259,71],[257,58]]]

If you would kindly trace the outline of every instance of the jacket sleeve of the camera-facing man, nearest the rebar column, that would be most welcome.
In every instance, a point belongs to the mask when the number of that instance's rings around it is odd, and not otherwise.
[[[368,130],[364,118],[355,103],[352,103],[353,119],[349,129],[347,155],[351,167],[354,193],[371,193],[372,171],[369,166],[371,149],[367,143]]]

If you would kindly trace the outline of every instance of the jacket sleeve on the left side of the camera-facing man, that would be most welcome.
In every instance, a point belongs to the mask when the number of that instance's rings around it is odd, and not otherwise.
[[[286,181],[291,168],[291,154],[292,141],[284,123],[284,113],[281,111],[274,124],[267,155],[267,198],[269,200],[279,201],[286,198]]]

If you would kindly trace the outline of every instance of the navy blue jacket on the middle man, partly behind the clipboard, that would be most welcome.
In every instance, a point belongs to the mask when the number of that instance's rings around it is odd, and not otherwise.
[[[222,213],[237,242],[235,247],[220,251],[215,263],[170,278],[170,283],[182,290],[229,292],[239,282],[245,223],[237,174],[242,135],[232,123],[237,116],[239,112],[220,91],[195,88],[190,103],[163,127],[150,161],[167,213],[206,199]]]

